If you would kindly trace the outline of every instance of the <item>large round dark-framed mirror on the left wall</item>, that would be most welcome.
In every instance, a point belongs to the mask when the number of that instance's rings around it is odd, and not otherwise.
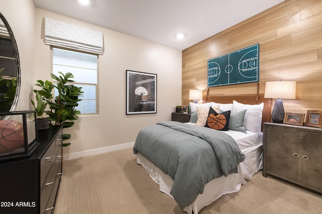
[[[20,61],[16,40],[7,20],[0,13],[0,112],[15,110],[20,81]]]

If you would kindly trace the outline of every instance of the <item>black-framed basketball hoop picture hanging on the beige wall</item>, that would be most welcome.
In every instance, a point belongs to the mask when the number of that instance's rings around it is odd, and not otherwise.
[[[156,113],[156,74],[126,70],[126,114]]]

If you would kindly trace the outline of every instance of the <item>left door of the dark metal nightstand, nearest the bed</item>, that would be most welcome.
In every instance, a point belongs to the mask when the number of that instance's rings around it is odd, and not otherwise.
[[[268,126],[267,170],[300,181],[300,131]]]

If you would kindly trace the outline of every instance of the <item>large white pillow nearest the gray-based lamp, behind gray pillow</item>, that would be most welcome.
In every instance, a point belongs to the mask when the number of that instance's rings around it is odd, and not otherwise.
[[[232,112],[239,112],[247,109],[245,114],[245,128],[255,133],[260,133],[262,128],[262,112],[264,103],[259,105],[249,105],[232,101]]]

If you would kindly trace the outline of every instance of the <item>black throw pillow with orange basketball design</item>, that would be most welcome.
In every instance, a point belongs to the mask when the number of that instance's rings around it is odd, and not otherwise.
[[[205,127],[227,131],[229,123],[230,111],[222,112],[218,114],[213,108],[209,109],[208,118]]]

